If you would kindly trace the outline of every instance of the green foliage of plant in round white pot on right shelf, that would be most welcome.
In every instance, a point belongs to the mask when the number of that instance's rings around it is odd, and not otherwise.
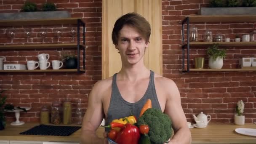
[[[219,44],[211,45],[207,48],[207,54],[209,57],[213,58],[213,61],[216,61],[216,59],[220,56],[221,58],[225,58],[226,51],[219,49]]]

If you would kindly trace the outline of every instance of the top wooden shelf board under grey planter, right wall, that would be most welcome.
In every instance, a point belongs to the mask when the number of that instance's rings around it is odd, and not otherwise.
[[[255,22],[256,15],[195,15],[187,16],[189,18],[189,23],[200,23],[200,22]],[[183,19],[183,22],[186,18]]]

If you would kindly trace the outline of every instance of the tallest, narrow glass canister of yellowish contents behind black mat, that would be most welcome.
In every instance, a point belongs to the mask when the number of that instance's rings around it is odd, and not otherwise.
[[[70,99],[65,99],[63,102],[63,124],[69,125],[71,124],[72,118],[72,108]]]

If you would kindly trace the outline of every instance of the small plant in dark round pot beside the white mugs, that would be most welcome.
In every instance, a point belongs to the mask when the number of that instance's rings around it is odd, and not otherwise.
[[[64,61],[66,69],[77,68],[77,56],[75,56],[75,54],[64,54],[62,56],[62,61]]]

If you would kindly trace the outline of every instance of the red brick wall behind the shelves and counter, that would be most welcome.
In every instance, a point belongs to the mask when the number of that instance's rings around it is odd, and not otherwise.
[[[31,0],[40,5],[45,0]],[[8,89],[8,103],[20,106],[31,106],[27,114],[21,113],[21,120],[39,121],[40,108],[51,105],[52,101],[63,101],[66,96],[72,98],[73,107],[81,100],[83,109],[87,107],[88,94],[93,84],[101,79],[101,0],[48,0],[56,3],[58,10],[67,10],[72,17],[83,17],[86,21],[86,72],[76,73],[1,73],[0,88]],[[0,12],[19,12],[24,0],[0,0]],[[200,7],[207,5],[208,0],[163,0],[163,76],[173,79],[181,92],[182,107],[188,120],[192,114],[203,111],[212,116],[211,122],[232,123],[235,104],[242,99],[245,102],[246,122],[256,122],[256,72],[189,72],[181,73],[181,24],[184,16],[197,14]],[[73,26],[48,27],[46,43],[55,43],[54,29],[60,28],[63,35],[61,43],[70,42],[69,30]],[[225,37],[234,39],[235,34],[249,33],[253,23],[197,24],[199,38],[202,40],[206,28],[213,36],[220,32]],[[0,44],[26,43],[23,27],[15,27],[15,38],[6,37],[6,29],[0,27]],[[41,26],[33,27],[29,43],[41,43]],[[191,59],[204,56],[206,48],[192,49]],[[36,60],[38,53],[49,53],[50,60],[61,59],[67,51],[0,51],[8,62],[25,63]],[[243,56],[256,57],[256,48],[227,48],[224,68],[235,68],[238,59]],[[190,63],[193,67],[193,61]],[[207,62],[206,62],[207,63]],[[73,109],[74,111],[75,109]],[[8,121],[14,116],[7,113]],[[73,115],[75,117],[75,115]]]

